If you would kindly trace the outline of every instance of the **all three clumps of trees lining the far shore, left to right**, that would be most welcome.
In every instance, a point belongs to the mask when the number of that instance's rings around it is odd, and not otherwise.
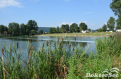
[[[115,27],[116,23],[116,27]],[[102,28],[97,29],[98,32],[105,32],[107,31],[115,31],[116,29],[121,29],[121,15],[118,15],[118,19],[115,20],[115,18],[110,17],[107,24],[104,24]],[[115,29],[115,30],[114,30]],[[43,30],[38,30],[38,25],[35,20],[29,20],[27,24],[18,24],[15,22],[9,23],[8,27],[4,25],[0,25],[0,35],[7,32],[7,34],[10,34],[11,36],[20,36],[20,35],[35,35],[35,34],[43,34]],[[73,23],[69,26],[69,24],[62,24],[61,27],[57,26],[50,27],[49,33],[73,33],[73,32],[81,32],[82,30],[88,30],[91,31],[90,28],[88,28],[87,24],[84,22],[80,23],[79,26],[76,23]]]

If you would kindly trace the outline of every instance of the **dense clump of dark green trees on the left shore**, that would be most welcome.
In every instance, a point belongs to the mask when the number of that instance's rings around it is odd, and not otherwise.
[[[36,34],[38,29],[37,22],[34,20],[29,20],[27,24],[18,24],[15,22],[9,23],[8,27],[0,25],[0,34],[3,34],[4,31],[7,31],[11,36],[19,35],[29,35]]]

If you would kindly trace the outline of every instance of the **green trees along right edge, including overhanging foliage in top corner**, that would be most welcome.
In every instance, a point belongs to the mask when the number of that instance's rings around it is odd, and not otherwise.
[[[97,31],[106,31],[107,28],[109,28],[110,31],[114,31],[117,29],[121,29],[121,1],[120,0],[112,0],[112,3],[110,3],[110,8],[114,12],[116,16],[118,16],[118,19],[115,20],[114,17],[110,17],[107,25],[104,24],[102,28],[97,29]],[[116,27],[115,27],[116,24]]]

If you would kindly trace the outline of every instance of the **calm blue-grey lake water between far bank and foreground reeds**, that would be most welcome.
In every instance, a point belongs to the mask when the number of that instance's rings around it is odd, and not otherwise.
[[[75,47],[82,47],[83,46],[83,50],[86,50],[88,48],[88,52],[96,52],[96,45],[94,40],[96,40],[97,38],[101,38],[101,37],[76,37],[76,41],[74,37],[65,37],[63,39],[63,44],[65,47],[67,47],[67,45],[71,45],[71,50]],[[19,50],[24,53],[23,55],[27,55],[27,45],[30,44],[29,43],[30,38],[23,38],[23,37],[5,37],[5,38],[0,38],[0,52],[2,50],[2,48],[6,47],[6,49],[9,49],[9,46],[11,45],[12,47],[14,47],[15,45],[15,49],[17,48],[17,41],[19,44]],[[60,37],[60,41],[61,41],[61,37]],[[54,36],[37,36],[32,38],[32,43],[31,46],[33,46],[33,49],[35,51],[39,51],[42,48],[43,43],[45,44],[44,46],[46,46],[46,41],[50,42],[51,41],[51,49],[53,49],[54,47],[54,42],[58,41],[58,37],[54,37]],[[68,42],[68,43],[67,43]],[[28,45],[29,47],[29,45]],[[2,56],[2,53],[0,53],[0,57]]]

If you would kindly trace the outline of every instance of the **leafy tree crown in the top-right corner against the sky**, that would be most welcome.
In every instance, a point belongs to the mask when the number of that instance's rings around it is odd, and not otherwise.
[[[121,14],[121,0],[113,0],[113,2],[110,4],[110,8],[114,12],[115,15]]]

